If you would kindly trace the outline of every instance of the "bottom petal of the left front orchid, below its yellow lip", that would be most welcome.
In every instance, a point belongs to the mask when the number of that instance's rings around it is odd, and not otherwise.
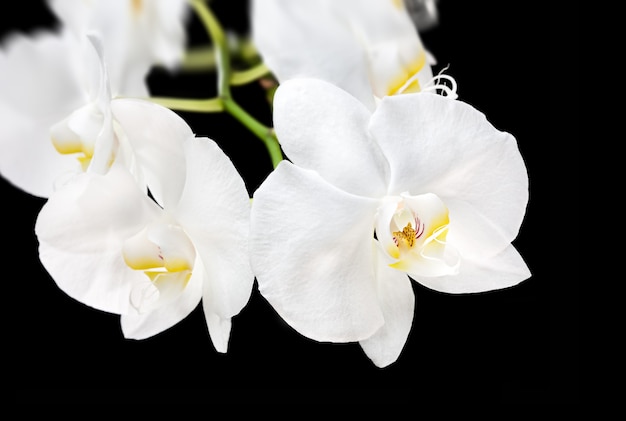
[[[200,303],[202,282],[202,270],[194,271],[185,289],[166,305],[145,314],[122,315],[121,326],[124,337],[146,339],[179,323]]]

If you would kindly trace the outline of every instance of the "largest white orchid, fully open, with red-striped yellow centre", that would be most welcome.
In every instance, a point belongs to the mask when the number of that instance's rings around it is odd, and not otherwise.
[[[358,341],[384,367],[411,329],[411,278],[473,293],[530,276],[511,244],[525,164],[470,105],[417,93],[371,112],[328,82],[292,79],[274,123],[291,162],[254,193],[251,261],[261,294],[304,336]]]

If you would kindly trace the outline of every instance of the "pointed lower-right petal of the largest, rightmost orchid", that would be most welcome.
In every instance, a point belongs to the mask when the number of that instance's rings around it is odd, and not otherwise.
[[[414,277],[414,279],[436,291],[473,293],[511,287],[530,276],[531,273],[522,257],[513,246],[509,246],[490,259],[480,261],[463,259],[457,275],[436,278]]]

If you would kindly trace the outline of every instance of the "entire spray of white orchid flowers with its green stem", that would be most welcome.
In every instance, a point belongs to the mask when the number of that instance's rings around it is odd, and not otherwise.
[[[420,18],[439,19],[426,3]],[[299,334],[358,343],[382,368],[415,329],[416,284],[531,277],[513,245],[529,200],[517,139],[434,71],[404,1],[252,0],[248,37],[204,0],[48,5],[57,28],[0,51],[0,172],[45,201],[34,232],[56,285],[120,315],[125,338],[201,304],[226,353],[258,287]],[[186,43],[191,20],[208,45]],[[156,95],[157,67],[214,72],[214,95]],[[233,93],[251,83],[271,124]],[[258,186],[192,114],[229,115],[260,142]]]

